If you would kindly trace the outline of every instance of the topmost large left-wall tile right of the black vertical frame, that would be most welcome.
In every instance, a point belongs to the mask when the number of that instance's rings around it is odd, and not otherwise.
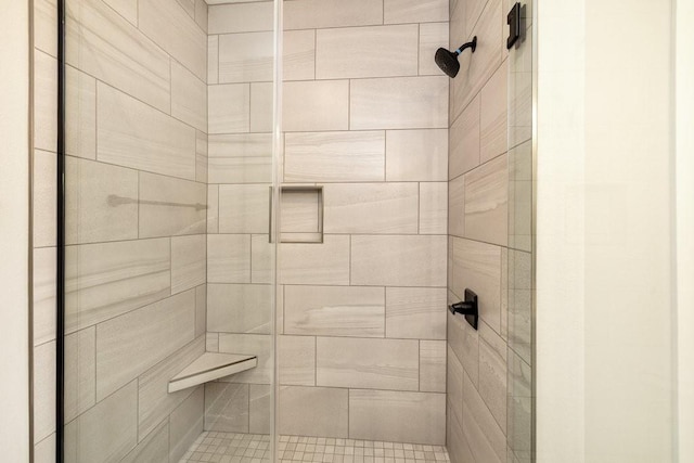
[[[169,56],[157,44],[101,1],[72,1],[66,15],[67,64],[169,110]]]

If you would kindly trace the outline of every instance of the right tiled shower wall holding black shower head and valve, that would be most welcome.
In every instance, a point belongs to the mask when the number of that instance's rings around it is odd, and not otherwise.
[[[478,42],[451,87],[448,298],[471,288],[480,310],[478,331],[448,314],[453,462],[529,461],[531,43],[506,50],[512,4],[451,4],[451,49]]]

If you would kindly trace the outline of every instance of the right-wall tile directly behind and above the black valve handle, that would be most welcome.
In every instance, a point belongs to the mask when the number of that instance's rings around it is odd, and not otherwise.
[[[459,296],[471,288],[479,297],[479,317],[501,331],[501,248],[486,243],[453,239],[453,285]]]

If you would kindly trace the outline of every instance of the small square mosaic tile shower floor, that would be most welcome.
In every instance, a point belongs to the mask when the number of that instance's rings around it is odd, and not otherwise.
[[[448,463],[441,446],[280,436],[280,462],[322,463]],[[203,433],[183,462],[262,463],[270,459],[270,436],[259,434]]]

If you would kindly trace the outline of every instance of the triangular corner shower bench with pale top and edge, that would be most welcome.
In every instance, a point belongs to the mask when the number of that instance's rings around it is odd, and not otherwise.
[[[169,394],[256,368],[257,356],[205,352],[169,380]]]

